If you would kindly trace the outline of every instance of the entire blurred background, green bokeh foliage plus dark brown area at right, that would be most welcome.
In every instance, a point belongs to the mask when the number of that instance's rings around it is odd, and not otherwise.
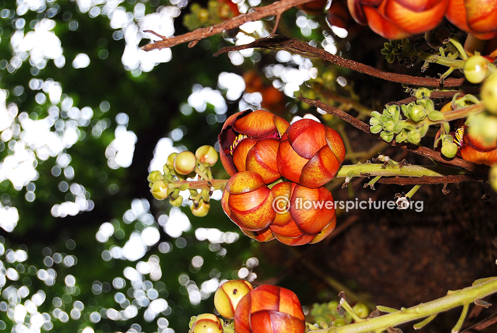
[[[274,18],[193,48],[139,49],[157,39],[146,29],[187,32],[190,5],[0,0],[0,331],[187,332],[233,278],[290,288],[308,313],[340,290],[353,302],[412,306],[496,273],[496,201],[485,184],[451,186],[447,195],[442,185],[423,187],[414,198],[422,213],[338,212],[335,233],[297,248],[244,236],[222,212],[221,193],[206,218],[192,216],[186,201],[171,208],[153,199],[150,171],[172,152],[218,148],[224,120],[248,108],[319,118],[344,136],[348,164],[380,151],[429,163],[295,99],[321,98],[365,119],[409,96],[399,85],[286,51],[213,57],[267,36]],[[413,70],[385,62],[381,37],[332,27],[324,14],[292,8],[278,31],[378,68]],[[220,163],[213,171],[228,177]],[[341,184],[329,185],[335,199],[392,200],[410,189]],[[430,332],[450,328],[454,316]]]

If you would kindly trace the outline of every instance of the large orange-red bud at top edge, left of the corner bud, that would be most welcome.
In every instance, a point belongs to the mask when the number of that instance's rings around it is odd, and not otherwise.
[[[352,17],[388,39],[401,39],[433,29],[449,0],[347,0]]]

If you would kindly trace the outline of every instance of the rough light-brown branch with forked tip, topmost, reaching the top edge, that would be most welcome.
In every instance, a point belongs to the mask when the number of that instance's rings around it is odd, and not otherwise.
[[[216,35],[218,33],[221,33],[225,30],[233,29],[233,28],[238,28],[240,25],[250,22],[250,21],[256,21],[260,20],[264,17],[267,16],[272,16],[272,15],[281,15],[284,11],[290,9],[291,7],[294,7],[298,4],[301,3],[306,3],[311,0],[281,0],[281,1],[275,1],[267,6],[263,7],[254,7],[252,12],[249,12],[247,14],[241,14],[236,17],[230,18],[229,20],[224,21],[223,23],[219,23],[210,27],[206,28],[199,28],[195,29],[191,32],[185,33],[183,35],[175,36],[175,37],[166,37],[166,36],[161,36],[151,30],[145,30],[144,32],[150,32],[153,33],[154,35],[161,37],[163,40],[159,40],[157,42],[154,42],[152,44],[147,44],[145,46],[142,46],[142,50],[145,51],[150,51],[150,50],[155,50],[155,49],[163,49],[166,47],[171,47],[175,46],[178,44],[186,43],[186,42],[194,42],[190,46],[194,46],[196,42],[199,40],[202,40],[204,38]]]

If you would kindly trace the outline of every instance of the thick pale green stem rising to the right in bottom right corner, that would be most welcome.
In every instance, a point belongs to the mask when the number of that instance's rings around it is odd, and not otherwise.
[[[458,306],[473,303],[483,297],[489,296],[497,291],[497,277],[488,281],[475,284],[457,291],[449,291],[447,296],[427,303],[421,303],[408,309],[401,309],[394,313],[364,321],[345,325],[342,327],[331,327],[327,330],[316,330],[314,332],[329,333],[366,333],[380,332],[388,327],[395,327],[403,323],[426,318],[440,312],[448,311]]]

